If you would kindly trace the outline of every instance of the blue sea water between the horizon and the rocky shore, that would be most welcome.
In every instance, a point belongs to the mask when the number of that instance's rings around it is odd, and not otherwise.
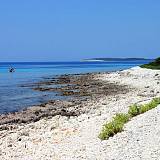
[[[150,62],[112,61],[112,62],[6,62],[0,63],[0,113],[15,112],[28,106],[56,99],[53,92],[33,91],[29,87],[20,87],[61,74],[105,72],[128,69]],[[16,72],[9,73],[14,67]]]

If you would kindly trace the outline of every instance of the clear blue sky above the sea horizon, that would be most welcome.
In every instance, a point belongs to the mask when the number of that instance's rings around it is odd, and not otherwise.
[[[0,0],[0,61],[160,56],[159,0]]]

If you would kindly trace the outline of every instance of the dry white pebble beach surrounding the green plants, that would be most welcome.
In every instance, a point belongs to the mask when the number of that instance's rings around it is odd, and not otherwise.
[[[37,160],[110,160],[134,159],[135,157],[145,159],[147,156],[150,159],[158,158],[157,152],[151,148],[155,142],[154,134],[158,136],[160,133],[158,127],[160,119],[156,117],[159,115],[159,107],[133,118],[126,125],[124,132],[118,133],[109,140],[101,141],[98,134],[103,124],[110,121],[116,113],[126,113],[131,104],[142,103],[160,96],[160,71],[134,67],[108,74],[96,74],[92,80],[88,79],[87,91],[94,91],[93,93],[96,94],[79,106],[72,104],[73,108],[79,107],[83,111],[79,115],[56,115],[44,117],[37,122],[30,121],[27,124],[3,125],[9,128],[0,131],[0,157]],[[96,82],[96,85],[92,82]],[[102,86],[106,88],[103,90]],[[80,89],[83,90],[85,87]],[[107,89],[108,92],[105,92]],[[148,116],[151,118],[147,121]],[[157,121],[152,121],[155,118]],[[153,130],[154,125],[156,125],[155,130]],[[147,126],[152,130],[149,130]],[[144,142],[145,145],[143,145]],[[158,142],[157,139],[155,147],[160,149]],[[136,145],[138,147],[135,147]],[[150,152],[143,153],[143,150]]]

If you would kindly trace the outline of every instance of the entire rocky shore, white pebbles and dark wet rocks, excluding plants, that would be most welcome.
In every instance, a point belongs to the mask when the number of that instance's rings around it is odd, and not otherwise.
[[[0,159],[159,159],[159,106],[133,118],[109,140],[101,141],[98,134],[116,113],[160,96],[160,71],[135,67],[64,75],[31,87],[71,98],[1,115]]]

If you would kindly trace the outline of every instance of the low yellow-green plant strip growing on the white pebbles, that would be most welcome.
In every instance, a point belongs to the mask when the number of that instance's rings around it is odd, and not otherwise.
[[[157,107],[160,104],[160,98],[153,98],[153,100],[144,105],[132,105],[129,107],[128,114],[118,113],[113,120],[109,123],[106,123],[103,126],[101,133],[99,134],[99,138],[101,140],[108,139],[109,137],[113,137],[118,132],[123,131],[124,124],[127,123],[132,117],[135,117],[139,114],[142,114],[150,109]]]

